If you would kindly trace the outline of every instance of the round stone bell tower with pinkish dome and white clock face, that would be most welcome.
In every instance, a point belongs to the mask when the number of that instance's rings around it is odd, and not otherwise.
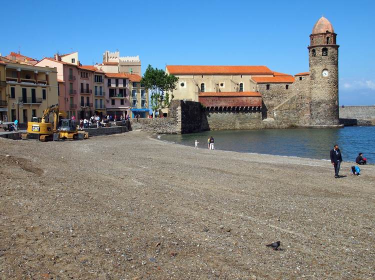
[[[337,125],[338,47],[332,24],[324,16],[316,21],[308,46],[310,124]]]

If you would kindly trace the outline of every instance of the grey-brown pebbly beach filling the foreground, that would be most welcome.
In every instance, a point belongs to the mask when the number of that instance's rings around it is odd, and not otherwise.
[[[138,131],[0,144],[0,279],[375,277],[374,165]]]

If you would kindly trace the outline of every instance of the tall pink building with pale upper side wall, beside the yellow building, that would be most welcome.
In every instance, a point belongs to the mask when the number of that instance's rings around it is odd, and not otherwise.
[[[35,66],[49,66],[57,68],[58,80],[58,105],[59,109],[67,113],[70,118],[72,115],[78,116],[78,104],[80,94],[78,87],[78,67],[76,64],[59,60],[59,56],[55,58],[45,57],[35,64]]]

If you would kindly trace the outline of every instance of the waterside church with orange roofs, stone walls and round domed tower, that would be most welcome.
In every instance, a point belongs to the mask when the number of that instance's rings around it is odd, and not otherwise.
[[[224,114],[254,124],[246,128],[337,126],[338,45],[324,16],[307,49],[309,71],[294,75],[264,65],[167,65],[165,72],[179,78],[174,98],[202,103],[208,122]]]

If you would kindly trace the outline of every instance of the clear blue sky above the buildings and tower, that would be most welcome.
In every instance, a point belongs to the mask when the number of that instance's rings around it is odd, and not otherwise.
[[[375,104],[373,1],[1,1],[0,52],[41,58],[79,51],[82,64],[104,50],[147,64],[266,65],[308,71],[316,20],[333,24],[339,47],[340,104]]]

